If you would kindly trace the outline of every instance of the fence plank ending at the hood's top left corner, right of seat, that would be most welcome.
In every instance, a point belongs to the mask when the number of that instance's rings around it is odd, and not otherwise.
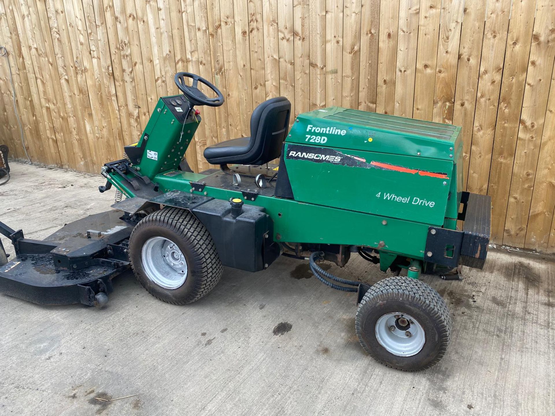
[[[295,51],[295,111],[310,109],[309,0],[293,0],[293,47]]]

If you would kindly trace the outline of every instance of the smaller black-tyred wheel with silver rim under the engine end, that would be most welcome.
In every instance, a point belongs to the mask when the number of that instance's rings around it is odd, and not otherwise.
[[[356,313],[362,348],[387,367],[419,371],[440,361],[451,337],[443,298],[426,283],[388,277],[372,286]]]

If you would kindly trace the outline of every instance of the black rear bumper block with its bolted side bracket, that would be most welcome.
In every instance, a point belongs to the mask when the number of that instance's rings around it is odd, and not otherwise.
[[[447,267],[465,265],[482,268],[491,235],[491,197],[462,192],[462,231],[430,227],[426,238],[425,260]]]

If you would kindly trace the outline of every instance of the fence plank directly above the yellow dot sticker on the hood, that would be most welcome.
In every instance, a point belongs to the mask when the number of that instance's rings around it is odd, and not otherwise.
[[[376,111],[380,1],[362,0],[360,38],[359,109]]]

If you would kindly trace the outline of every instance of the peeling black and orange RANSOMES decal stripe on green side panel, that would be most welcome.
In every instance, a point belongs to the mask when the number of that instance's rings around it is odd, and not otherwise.
[[[341,153],[339,150],[316,148],[314,146],[290,144],[287,146],[285,159],[308,160],[315,163],[331,163],[334,165],[350,166],[352,168],[391,170],[402,173],[418,174],[421,176],[437,177],[440,179],[449,179],[445,173],[405,168],[404,166],[392,165],[390,163],[379,161],[371,161],[368,163],[366,159],[361,158],[360,156],[347,155],[345,153]]]

